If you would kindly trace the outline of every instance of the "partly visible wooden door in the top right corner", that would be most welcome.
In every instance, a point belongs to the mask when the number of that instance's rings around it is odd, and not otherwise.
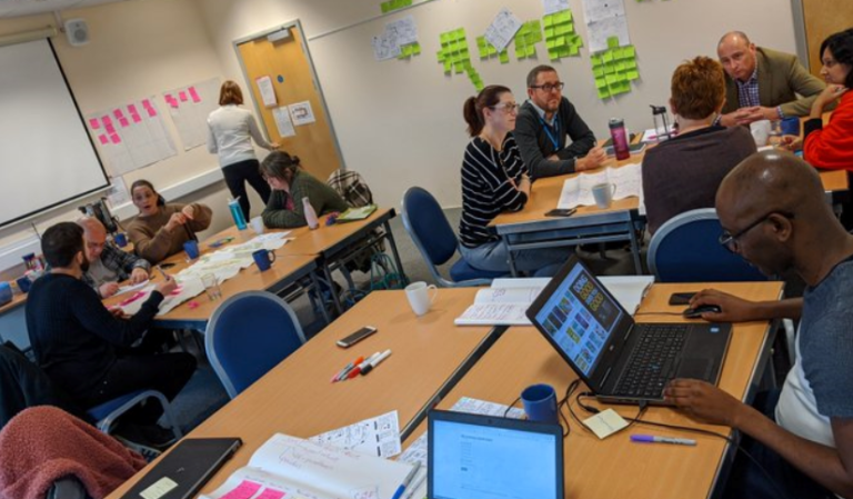
[[[809,68],[821,78],[821,43],[832,33],[853,27],[853,2],[847,0],[802,0]],[[821,78],[823,79],[823,78]]]

